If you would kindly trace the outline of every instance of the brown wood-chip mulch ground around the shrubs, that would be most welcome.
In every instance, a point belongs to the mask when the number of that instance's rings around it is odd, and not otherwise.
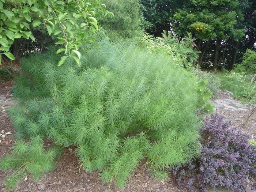
[[[11,97],[11,86],[13,81],[0,82],[0,95],[5,95],[6,98]],[[219,91],[219,98],[231,98],[230,93]],[[0,106],[1,107],[1,106]],[[219,113],[225,116],[225,120],[231,120],[235,126],[243,128],[245,132],[253,136],[256,140],[256,114],[251,118],[248,127],[244,128],[247,113],[239,113],[239,117],[234,120],[237,112],[225,111],[218,109]],[[0,131],[14,132],[11,124],[11,119],[7,116],[5,110],[0,108]],[[11,147],[14,144],[12,134],[6,135],[5,138],[0,138],[0,159],[6,154],[9,154]],[[49,141],[49,144],[51,142]],[[129,178],[128,183],[123,189],[118,189],[114,184],[109,185],[99,180],[99,172],[86,173],[82,169],[79,170],[79,160],[76,158],[74,147],[66,148],[65,153],[58,159],[56,170],[52,173],[45,174],[39,182],[31,180],[30,176],[23,177],[22,182],[15,189],[16,192],[75,192],[75,191],[90,191],[90,192],[178,192],[187,189],[180,188],[175,177],[170,174],[170,180],[167,182],[157,181],[148,172],[145,167],[145,162],[142,162],[135,173]],[[4,178],[11,174],[12,171],[0,171],[0,192],[6,192],[7,186],[4,185]],[[252,178],[246,182],[249,187],[255,182]]]

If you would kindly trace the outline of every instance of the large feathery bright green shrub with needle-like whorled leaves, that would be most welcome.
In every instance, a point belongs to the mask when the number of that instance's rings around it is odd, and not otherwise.
[[[104,182],[123,187],[144,158],[167,179],[167,167],[198,154],[202,124],[195,110],[211,106],[202,102],[196,78],[165,53],[102,40],[82,54],[81,67],[72,59],[57,67],[55,53],[22,60],[14,89],[19,104],[9,110],[17,143],[1,169],[27,163],[29,173],[42,174],[54,168],[62,147],[76,146],[86,172],[98,170]],[[46,138],[57,147],[46,149]],[[8,163],[15,159],[19,165]]]

